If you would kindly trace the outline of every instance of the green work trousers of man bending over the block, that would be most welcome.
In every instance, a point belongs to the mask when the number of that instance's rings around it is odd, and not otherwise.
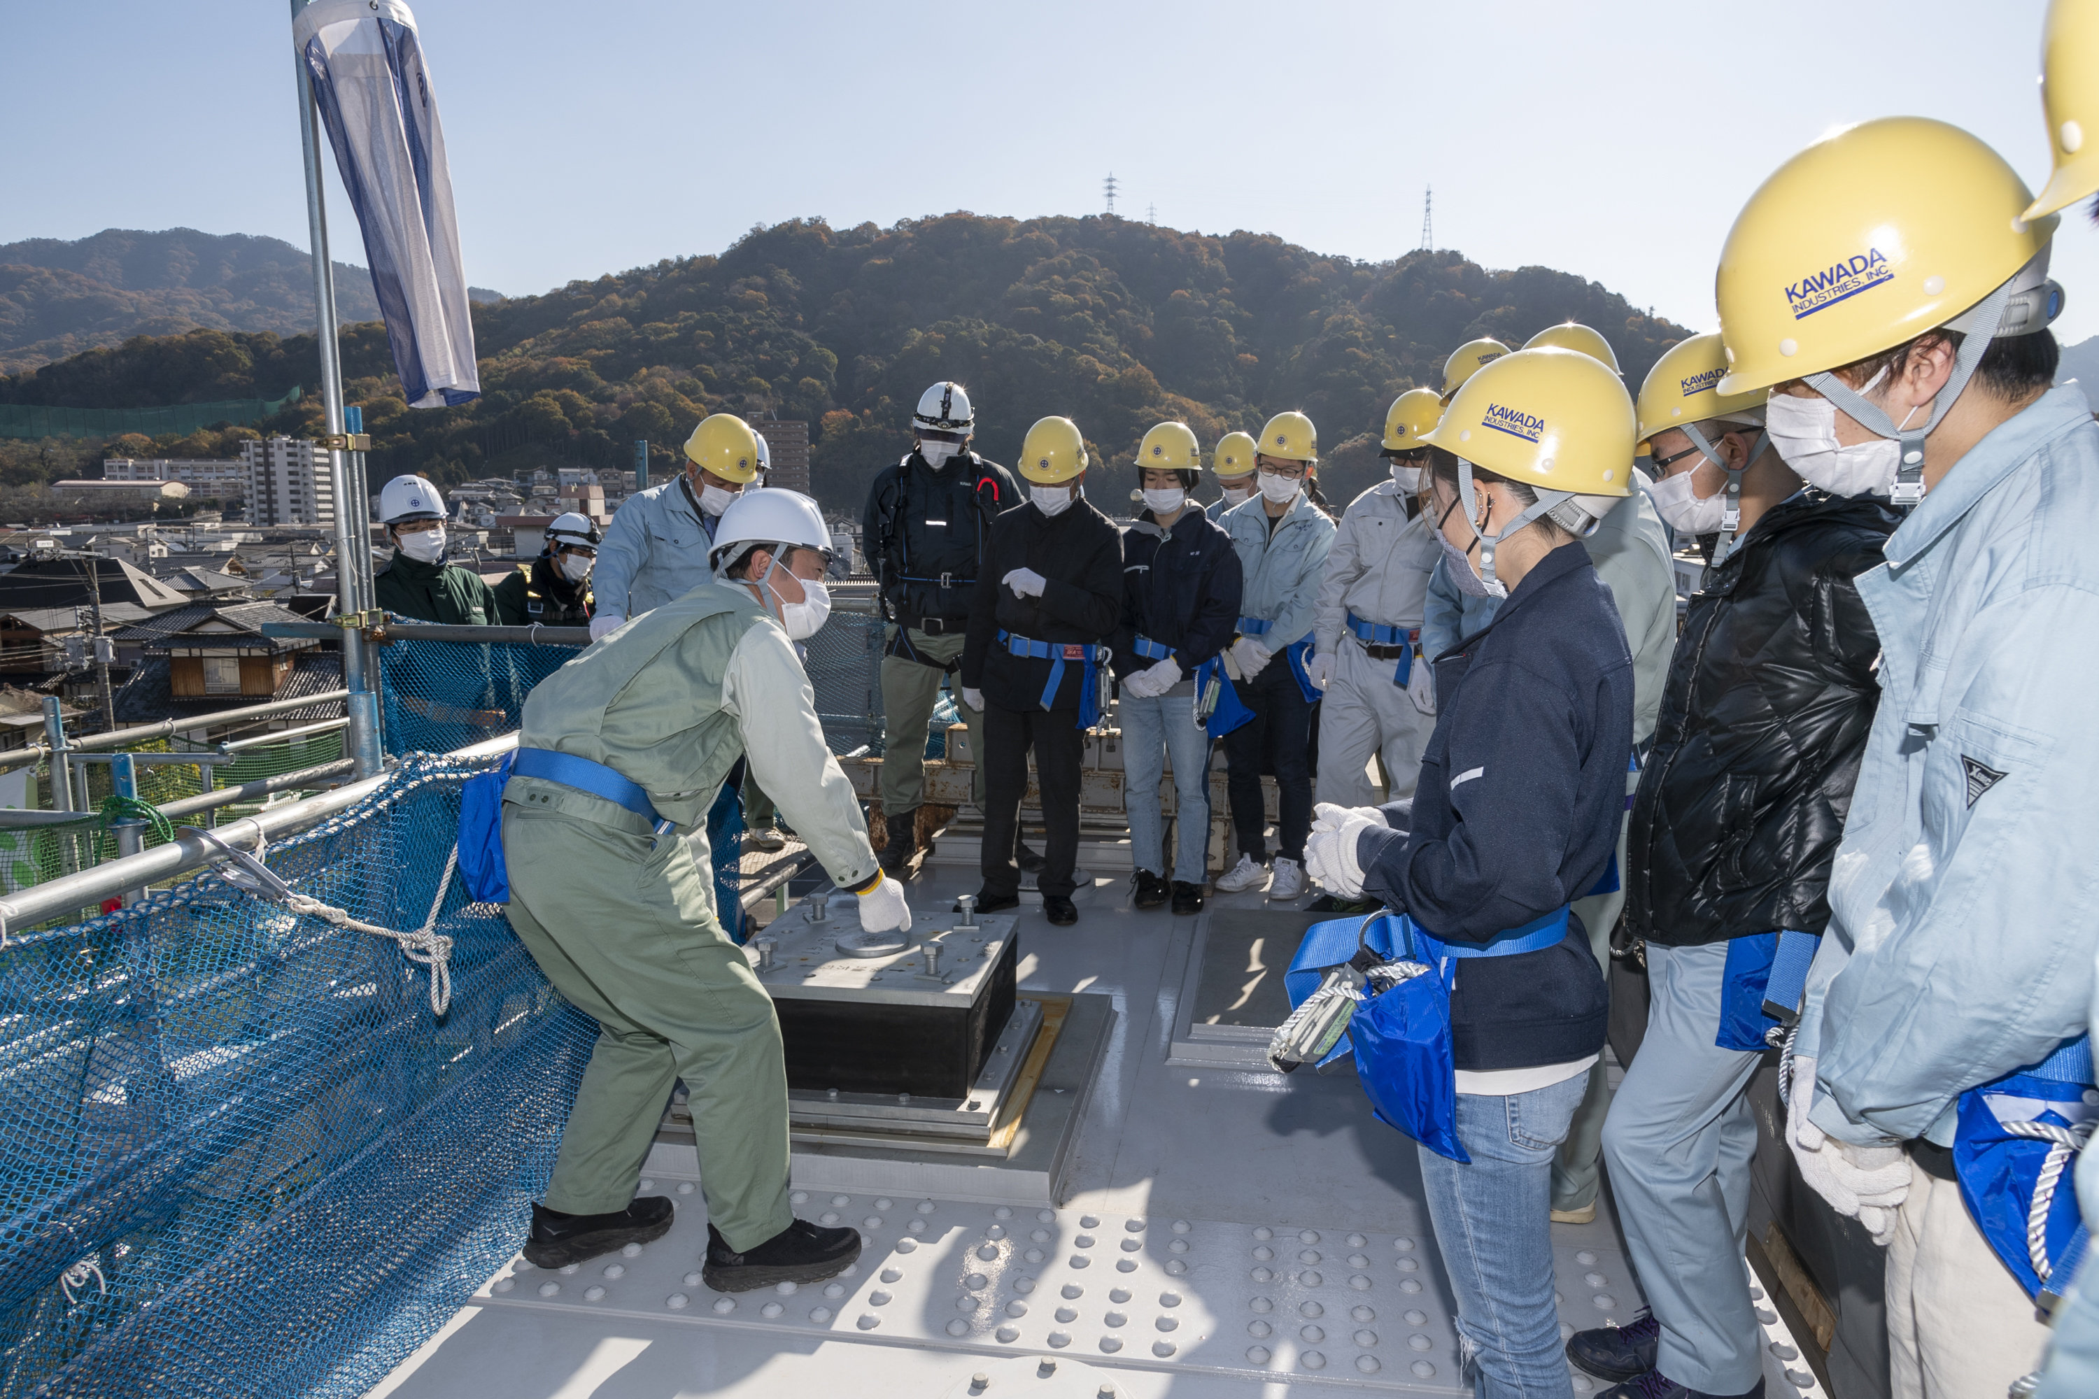
[[[793,1223],[779,1017],[722,933],[714,877],[691,843],[512,803],[504,862],[510,927],[546,980],[600,1026],[546,1206],[628,1208],[682,1078],[714,1227],[747,1250]]]

